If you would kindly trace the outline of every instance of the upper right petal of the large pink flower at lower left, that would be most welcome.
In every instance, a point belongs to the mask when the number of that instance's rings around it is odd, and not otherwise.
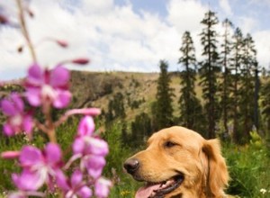
[[[61,160],[62,153],[58,144],[49,143],[45,148],[47,163],[56,164]]]

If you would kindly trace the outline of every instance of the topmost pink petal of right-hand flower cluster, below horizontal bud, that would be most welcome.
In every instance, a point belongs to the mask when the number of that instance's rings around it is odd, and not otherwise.
[[[91,136],[94,132],[94,119],[91,116],[85,116],[78,125],[78,135]]]

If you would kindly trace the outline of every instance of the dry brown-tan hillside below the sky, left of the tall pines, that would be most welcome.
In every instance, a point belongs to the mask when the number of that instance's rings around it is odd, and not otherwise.
[[[158,73],[133,72],[80,72],[73,71],[71,90],[74,94],[73,107],[94,106],[106,111],[113,94],[121,92],[125,96],[127,120],[132,120],[140,112],[149,112],[150,103],[156,100]],[[180,94],[180,79],[171,73],[171,87],[175,89],[174,106]],[[139,108],[131,109],[128,104],[143,100]],[[175,111],[177,113],[177,111]]]

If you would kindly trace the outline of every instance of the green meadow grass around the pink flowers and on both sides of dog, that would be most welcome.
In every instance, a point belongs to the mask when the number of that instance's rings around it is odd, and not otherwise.
[[[70,155],[68,152],[70,142],[76,133],[77,120],[70,120],[67,124],[58,129],[58,142],[66,157]],[[97,124],[98,125],[98,124]],[[113,187],[110,198],[125,197],[133,198],[136,190],[141,185],[134,181],[130,175],[124,173],[122,164],[126,158],[136,153],[141,148],[130,148],[129,142],[121,143],[121,123],[115,123],[112,127],[103,133],[110,146],[110,153],[106,157],[107,165],[103,174],[112,180]],[[46,142],[46,138],[34,136],[33,143],[42,147]],[[0,152],[4,150],[20,149],[24,143],[27,143],[23,137],[14,137],[6,139],[3,135],[0,137]],[[229,174],[231,177],[228,193],[247,198],[266,198],[270,197],[270,157],[267,156],[265,144],[260,141],[252,141],[246,146],[235,146],[232,144],[223,144],[223,156],[226,157],[229,166]],[[69,153],[69,154],[68,154]],[[0,172],[6,176],[0,177],[0,197],[4,197],[3,193],[14,189],[10,175],[18,172],[19,168],[15,166],[14,160],[0,159]],[[267,193],[260,192],[266,189]]]

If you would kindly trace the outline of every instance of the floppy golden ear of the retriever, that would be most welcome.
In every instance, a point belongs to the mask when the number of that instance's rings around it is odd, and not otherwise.
[[[211,197],[223,197],[223,189],[229,181],[229,174],[225,159],[220,153],[220,141],[218,139],[205,140],[202,151],[208,157],[207,185]]]

